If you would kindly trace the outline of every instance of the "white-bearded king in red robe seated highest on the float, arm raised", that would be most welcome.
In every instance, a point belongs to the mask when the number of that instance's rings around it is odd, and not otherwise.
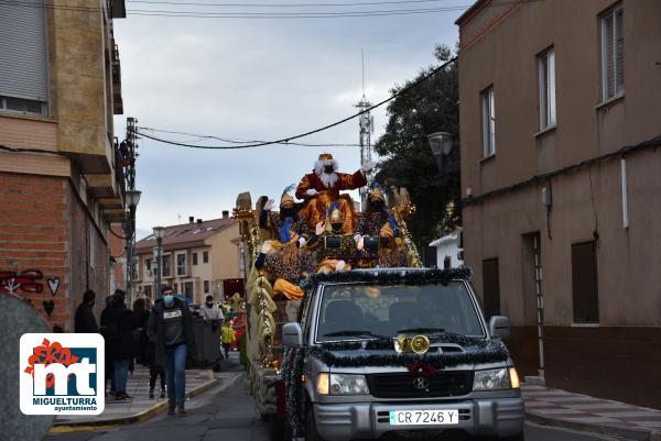
[[[301,218],[305,219],[307,227],[313,230],[325,218],[328,205],[338,202],[343,212],[344,231],[351,234],[355,227],[356,213],[348,195],[339,195],[342,190],[354,190],[367,185],[367,174],[375,168],[372,161],[365,164],[353,175],[337,172],[337,161],[329,153],[322,153],[314,165],[313,173],[301,179],[296,187],[296,198],[305,200],[301,210]]]

